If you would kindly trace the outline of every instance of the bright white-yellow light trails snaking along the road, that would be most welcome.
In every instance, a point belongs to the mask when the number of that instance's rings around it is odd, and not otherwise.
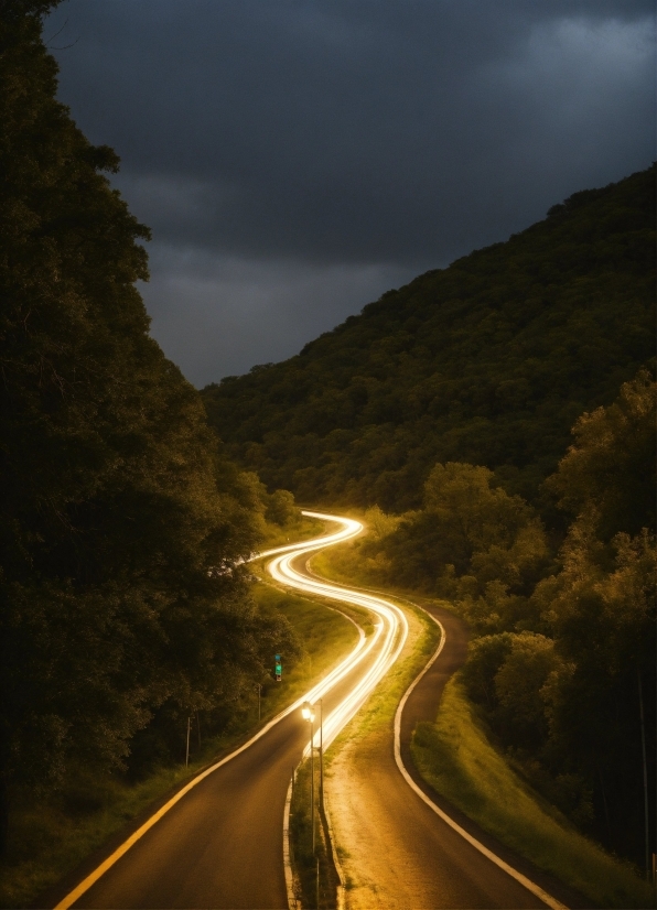
[[[290,546],[281,546],[274,550],[259,553],[258,557],[267,557],[276,555],[267,565],[268,572],[271,576],[288,587],[295,591],[302,591],[305,594],[313,594],[319,597],[326,597],[331,600],[337,600],[343,604],[353,604],[354,606],[364,607],[379,617],[380,622],[375,625],[375,631],[369,639],[365,639],[360,632],[360,640],[356,648],[342,661],[335,670],[325,676],[320,683],[310,690],[305,695],[291,705],[286,713],[294,711],[305,701],[316,702],[322,698],[340,680],[351,673],[380,642],[378,654],[371,662],[368,670],[354,685],[352,691],[343,698],[340,705],[335,707],[323,723],[323,741],[324,748],[331,745],[337,734],[348,724],[352,717],[356,714],[358,708],[366,701],[368,695],[375,689],[377,683],[384,678],[387,671],[392,667],[401,649],[406,643],[408,637],[408,621],[403,611],[384,600],[381,597],[376,597],[371,594],[363,592],[351,591],[342,588],[337,585],[332,585],[328,582],[310,578],[308,575],[302,575],[292,566],[292,562],[304,553],[313,553],[317,550],[323,550],[325,546],[332,546],[346,540],[356,537],[363,530],[359,521],[354,521],[349,518],[342,518],[338,516],[324,514],[322,512],[304,511],[304,516],[309,518],[319,518],[323,521],[334,521],[342,524],[342,529],[334,534],[328,534],[314,540],[305,541],[304,543],[291,544]],[[315,734],[314,745],[319,746],[320,733]],[[310,752],[310,744],[305,750]]]

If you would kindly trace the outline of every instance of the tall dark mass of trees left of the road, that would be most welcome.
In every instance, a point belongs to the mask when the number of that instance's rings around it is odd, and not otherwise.
[[[149,337],[149,230],[105,175],[117,155],[55,99],[51,6],[0,18],[3,835],[8,801],[80,768],[180,760],[190,714],[225,722],[293,650],[243,565],[291,495],[228,462]]]

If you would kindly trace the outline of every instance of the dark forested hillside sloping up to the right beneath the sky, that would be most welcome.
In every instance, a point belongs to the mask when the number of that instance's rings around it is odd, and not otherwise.
[[[203,390],[228,449],[312,502],[402,511],[435,462],[536,501],[583,412],[654,355],[655,167],[575,193],[297,357]]]

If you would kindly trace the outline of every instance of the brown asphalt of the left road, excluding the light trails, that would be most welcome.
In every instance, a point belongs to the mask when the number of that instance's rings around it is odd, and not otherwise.
[[[305,559],[299,557],[298,570]],[[324,695],[325,715],[353,692],[384,647],[380,636]],[[287,908],[283,809],[308,740],[309,725],[300,711],[283,717],[194,787],[69,906]]]

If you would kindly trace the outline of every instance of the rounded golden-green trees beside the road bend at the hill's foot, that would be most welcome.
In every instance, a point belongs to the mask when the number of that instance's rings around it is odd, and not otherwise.
[[[481,631],[524,628],[526,595],[549,565],[549,549],[535,510],[493,481],[485,467],[435,465],[422,509],[365,512],[368,533],[342,554],[343,567],[364,584],[459,597]]]

